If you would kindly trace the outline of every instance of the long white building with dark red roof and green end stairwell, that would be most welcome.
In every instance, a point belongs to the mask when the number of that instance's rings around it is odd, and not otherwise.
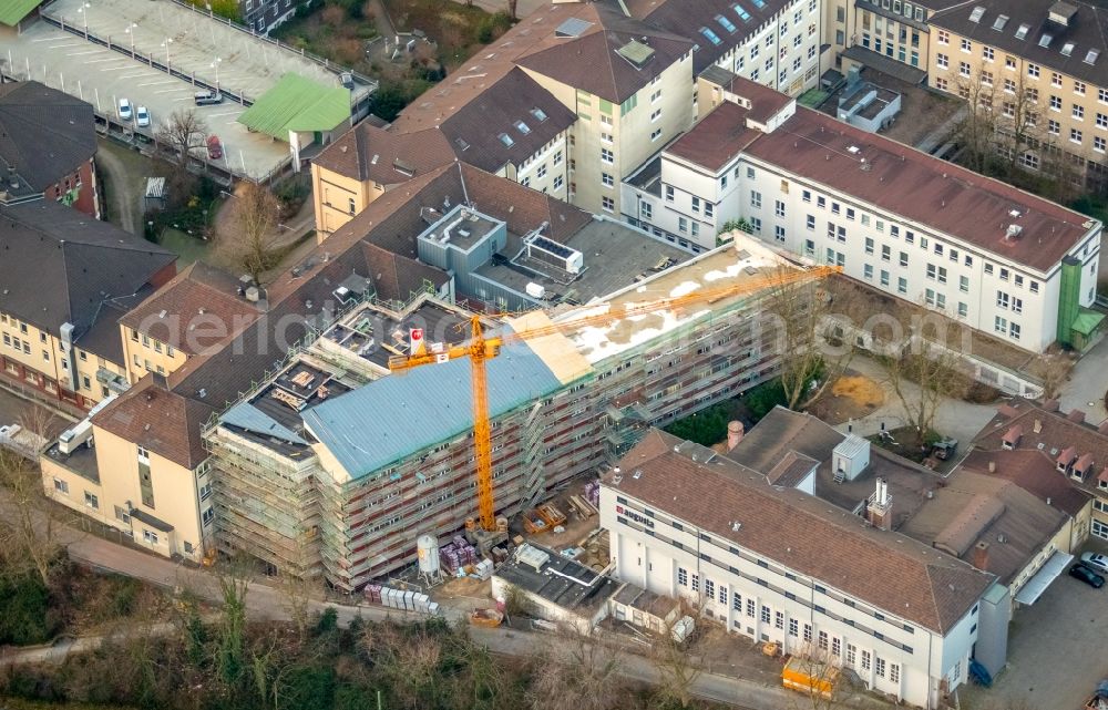
[[[624,182],[629,223],[708,248],[741,218],[782,250],[1018,348],[1091,341],[1080,328],[1096,297],[1099,222],[709,75],[699,101],[715,110]]]

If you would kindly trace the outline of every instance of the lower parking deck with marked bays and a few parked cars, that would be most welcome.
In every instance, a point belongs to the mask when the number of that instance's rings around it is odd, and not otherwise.
[[[126,97],[133,106],[146,106],[151,125],[138,128],[132,121],[127,126],[146,136],[153,136],[173,112],[194,107],[196,88],[187,81],[42,21],[22,34],[0,27],[0,61],[9,76],[33,79],[79,96],[112,121],[120,123],[120,99]],[[223,158],[215,163],[239,175],[261,177],[289,160],[288,144],[247,131],[236,121],[243,111],[242,105],[229,101],[196,107],[207,132],[223,142]],[[197,157],[206,156],[198,152]]]

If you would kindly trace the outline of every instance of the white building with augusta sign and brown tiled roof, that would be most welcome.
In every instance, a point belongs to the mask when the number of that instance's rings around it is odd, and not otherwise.
[[[800,490],[815,465],[798,456],[762,474],[652,430],[602,480],[611,574],[693,597],[729,631],[841,663],[899,701],[937,707],[966,681],[974,645],[1005,632],[1006,615],[993,614],[1008,604],[1003,588],[891,531],[881,479],[856,514]]]

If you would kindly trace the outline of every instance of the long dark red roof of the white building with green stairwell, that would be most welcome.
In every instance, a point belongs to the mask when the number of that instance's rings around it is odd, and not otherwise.
[[[1042,197],[802,106],[746,153],[1039,271],[1058,264],[1091,223]],[[1019,217],[1009,214],[1014,209]],[[1012,224],[1022,233],[1006,239]]]

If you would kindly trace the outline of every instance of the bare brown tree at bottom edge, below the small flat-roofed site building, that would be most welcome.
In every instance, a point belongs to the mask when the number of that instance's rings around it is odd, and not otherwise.
[[[568,625],[532,661],[527,702],[534,710],[612,710],[624,701],[618,649]]]

